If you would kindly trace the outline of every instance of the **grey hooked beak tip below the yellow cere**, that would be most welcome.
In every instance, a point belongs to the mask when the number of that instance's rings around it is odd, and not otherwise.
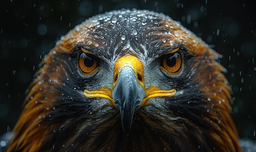
[[[138,83],[135,71],[130,66],[121,69],[112,92],[115,107],[120,111],[125,134],[130,133],[134,112],[139,109],[146,93]]]

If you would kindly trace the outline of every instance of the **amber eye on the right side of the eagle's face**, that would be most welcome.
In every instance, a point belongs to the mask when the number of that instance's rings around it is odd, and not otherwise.
[[[178,72],[182,67],[182,55],[180,53],[171,53],[163,58],[162,66],[171,73]]]

